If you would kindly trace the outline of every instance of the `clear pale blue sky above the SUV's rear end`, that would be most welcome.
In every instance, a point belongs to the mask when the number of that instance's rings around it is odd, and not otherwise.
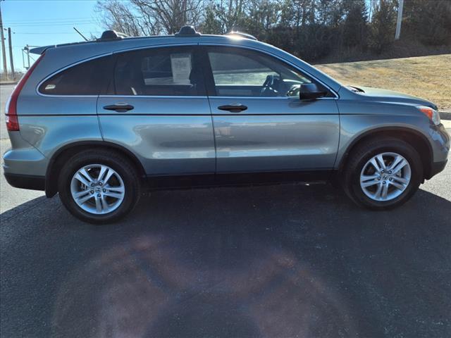
[[[73,29],[74,26],[88,39],[91,33],[99,37],[103,30],[94,11],[96,3],[97,0],[0,0],[3,27],[11,27],[13,32],[11,39],[15,70],[23,70],[22,49],[27,44],[47,46],[83,41]],[[9,72],[8,32],[5,30],[4,37]],[[37,58],[35,54],[30,56]],[[2,57],[0,70],[3,71]]]

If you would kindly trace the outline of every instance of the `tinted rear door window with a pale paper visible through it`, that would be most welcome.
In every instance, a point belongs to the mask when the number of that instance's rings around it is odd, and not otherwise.
[[[205,95],[202,68],[190,46],[119,54],[114,84],[118,95]]]

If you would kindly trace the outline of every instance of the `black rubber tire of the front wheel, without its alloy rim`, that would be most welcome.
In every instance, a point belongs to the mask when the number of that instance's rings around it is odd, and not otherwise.
[[[407,188],[400,196],[390,201],[375,201],[366,196],[360,187],[360,173],[373,156],[384,152],[393,152],[403,156],[409,162],[412,173]],[[376,211],[395,208],[407,202],[418,190],[424,177],[423,165],[418,152],[407,142],[394,137],[379,137],[359,144],[350,154],[340,176],[343,177],[343,188],[352,201],[359,206]]]

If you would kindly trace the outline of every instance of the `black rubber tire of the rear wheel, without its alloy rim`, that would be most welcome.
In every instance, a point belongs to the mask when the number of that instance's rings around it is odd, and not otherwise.
[[[124,183],[125,194],[123,201],[116,210],[110,213],[96,215],[83,210],[75,203],[70,192],[70,182],[73,175],[85,165],[94,163],[108,165],[121,176]],[[118,152],[106,149],[92,149],[75,154],[75,156],[66,161],[66,165],[63,166],[58,177],[58,193],[64,206],[76,218],[93,224],[113,223],[130,213],[137,204],[140,198],[140,178],[132,163]]]

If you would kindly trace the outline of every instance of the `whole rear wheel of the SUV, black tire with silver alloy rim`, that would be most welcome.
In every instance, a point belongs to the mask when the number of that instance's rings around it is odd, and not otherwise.
[[[58,192],[64,206],[80,220],[112,223],[137,203],[139,181],[135,168],[116,151],[85,151],[64,165]]]

